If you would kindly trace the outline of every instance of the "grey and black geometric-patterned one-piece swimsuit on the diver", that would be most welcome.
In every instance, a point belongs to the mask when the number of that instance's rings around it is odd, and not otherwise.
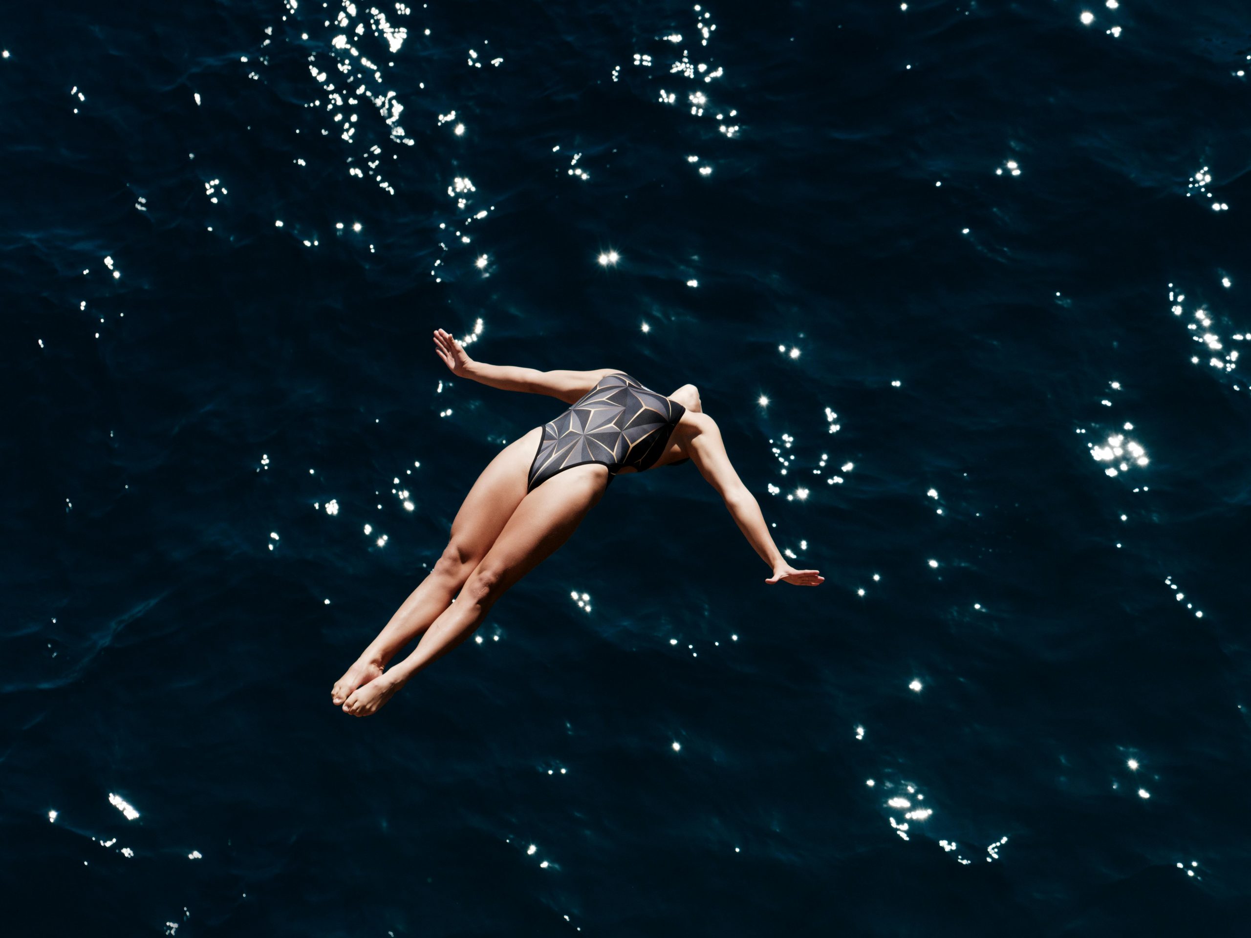
[[[624,371],[607,374],[555,420],[530,463],[527,492],[575,465],[608,466],[608,480],[623,466],[651,468],[669,445],[687,411],[682,404],[644,388]],[[686,460],[682,460],[686,461]]]

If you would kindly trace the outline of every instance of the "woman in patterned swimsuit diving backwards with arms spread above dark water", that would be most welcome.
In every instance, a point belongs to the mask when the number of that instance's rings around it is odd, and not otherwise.
[[[458,378],[547,394],[570,406],[504,446],[478,477],[434,569],[332,689],[330,699],[344,713],[377,712],[410,677],[468,638],[504,590],[573,534],[613,475],[692,460],[773,569],[766,583],[824,582],[817,570],[797,570],[782,559],[693,384],[666,398],[612,368],[537,371],[487,365],[470,359],[443,329],[434,331],[434,350]],[[384,670],[418,635],[413,653]]]

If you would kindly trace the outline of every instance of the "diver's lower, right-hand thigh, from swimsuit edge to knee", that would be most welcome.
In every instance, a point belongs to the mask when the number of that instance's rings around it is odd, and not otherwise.
[[[597,464],[549,478],[522,499],[472,578],[495,595],[508,589],[569,539],[605,488],[608,468]]]

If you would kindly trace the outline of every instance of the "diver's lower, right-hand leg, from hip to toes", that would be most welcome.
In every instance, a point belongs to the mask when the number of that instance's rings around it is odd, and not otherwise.
[[[343,710],[368,717],[417,672],[473,634],[495,600],[573,534],[607,485],[608,469],[587,464],[553,475],[522,499],[458,600],[434,620],[408,658],[355,690]]]

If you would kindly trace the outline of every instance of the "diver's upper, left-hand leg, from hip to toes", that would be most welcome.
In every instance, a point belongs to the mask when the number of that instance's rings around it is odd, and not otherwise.
[[[448,608],[525,498],[525,480],[542,433],[543,428],[535,426],[513,440],[483,469],[452,522],[452,538],[434,568],[330,689],[335,707],[382,674],[387,662]]]

